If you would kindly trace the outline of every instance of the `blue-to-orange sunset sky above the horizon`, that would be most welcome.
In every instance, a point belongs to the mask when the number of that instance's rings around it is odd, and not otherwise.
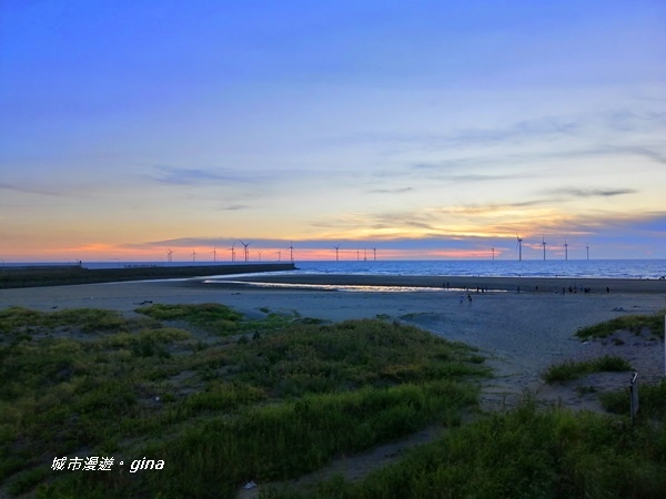
[[[1,0],[0,263],[666,258],[663,0]]]

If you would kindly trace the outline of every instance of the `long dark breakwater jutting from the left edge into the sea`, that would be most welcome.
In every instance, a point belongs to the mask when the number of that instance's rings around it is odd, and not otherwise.
[[[220,264],[179,266],[128,266],[123,268],[85,268],[79,265],[34,266],[0,272],[0,289],[22,287],[67,286],[145,279],[192,278],[211,275],[232,275],[293,271],[293,263],[279,264]]]

